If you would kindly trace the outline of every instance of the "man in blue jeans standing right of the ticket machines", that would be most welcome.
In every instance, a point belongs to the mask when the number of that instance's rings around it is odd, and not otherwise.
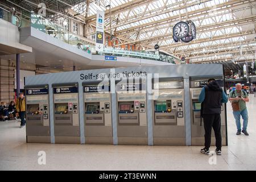
[[[236,84],[236,90],[233,90],[229,93],[229,101],[232,102],[232,109],[233,109],[233,115],[236,119],[236,125],[237,125],[237,135],[241,134],[241,123],[240,118],[242,115],[243,118],[243,129],[242,133],[248,136],[247,133],[247,124],[248,124],[248,112],[246,109],[245,102],[249,102],[249,98],[247,96],[247,93],[242,90],[241,84]]]

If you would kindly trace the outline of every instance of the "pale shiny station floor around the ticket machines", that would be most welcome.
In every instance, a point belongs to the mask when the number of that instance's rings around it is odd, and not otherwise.
[[[0,122],[0,170],[256,170],[255,107],[250,94],[249,136],[237,136],[228,102],[229,146],[222,147],[221,156],[201,154],[201,146],[26,143],[26,129],[19,129],[19,122]],[[46,165],[38,164],[39,151],[46,152]]]

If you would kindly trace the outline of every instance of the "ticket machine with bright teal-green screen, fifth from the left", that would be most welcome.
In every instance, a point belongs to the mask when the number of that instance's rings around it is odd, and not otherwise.
[[[152,80],[154,145],[185,145],[183,77]]]

